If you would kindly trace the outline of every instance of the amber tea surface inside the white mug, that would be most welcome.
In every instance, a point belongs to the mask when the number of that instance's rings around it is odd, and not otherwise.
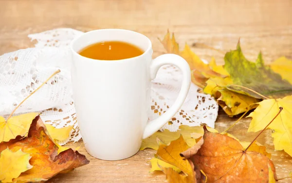
[[[138,46],[123,41],[103,41],[83,48],[79,54],[96,60],[114,61],[142,55]]]

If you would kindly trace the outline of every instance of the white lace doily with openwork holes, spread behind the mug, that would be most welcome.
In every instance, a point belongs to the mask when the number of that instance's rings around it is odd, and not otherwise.
[[[69,141],[81,138],[72,99],[70,42],[82,32],[60,28],[28,37],[37,40],[35,48],[20,49],[0,56],[0,115],[7,117],[13,109],[57,69],[53,77],[29,100],[18,108],[16,114],[38,111],[45,123],[57,128],[73,125]],[[149,120],[163,114],[175,101],[181,87],[181,71],[165,65],[152,81]],[[163,129],[176,131],[180,125],[198,126],[205,123],[214,127],[218,104],[209,95],[197,93],[191,84],[189,94],[180,111]]]

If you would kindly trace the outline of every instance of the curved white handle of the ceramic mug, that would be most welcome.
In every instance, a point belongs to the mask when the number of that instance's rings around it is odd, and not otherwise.
[[[176,54],[164,54],[154,59],[150,64],[150,77],[151,80],[155,79],[159,68],[165,64],[172,64],[177,66],[183,72],[183,81],[181,91],[178,98],[173,105],[159,118],[147,123],[143,133],[143,139],[146,139],[153,133],[157,132],[160,128],[169,122],[169,120],[179,111],[183,102],[187,96],[191,85],[191,70],[188,63],[180,56]]]

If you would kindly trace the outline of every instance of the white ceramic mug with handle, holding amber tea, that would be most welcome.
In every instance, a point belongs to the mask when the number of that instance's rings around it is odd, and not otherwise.
[[[78,54],[82,48],[101,41],[125,41],[140,47],[144,53],[117,61],[94,60]],[[180,109],[188,93],[191,82],[188,63],[175,54],[152,60],[151,41],[140,33],[94,30],[76,38],[71,50],[77,121],[85,148],[95,158],[121,160],[136,154],[142,139],[164,126]],[[165,64],[182,70],[182,88],[168,111],[148,122],[151,80]]]

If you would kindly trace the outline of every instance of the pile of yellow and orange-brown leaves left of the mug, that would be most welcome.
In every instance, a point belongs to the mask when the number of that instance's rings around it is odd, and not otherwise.
[[[37,113],[12,114],[7,120],[0,117],[0,183],[45,182],[89,163],[77,150],[57,143],[69,138],[73,126],[57,129]]]

